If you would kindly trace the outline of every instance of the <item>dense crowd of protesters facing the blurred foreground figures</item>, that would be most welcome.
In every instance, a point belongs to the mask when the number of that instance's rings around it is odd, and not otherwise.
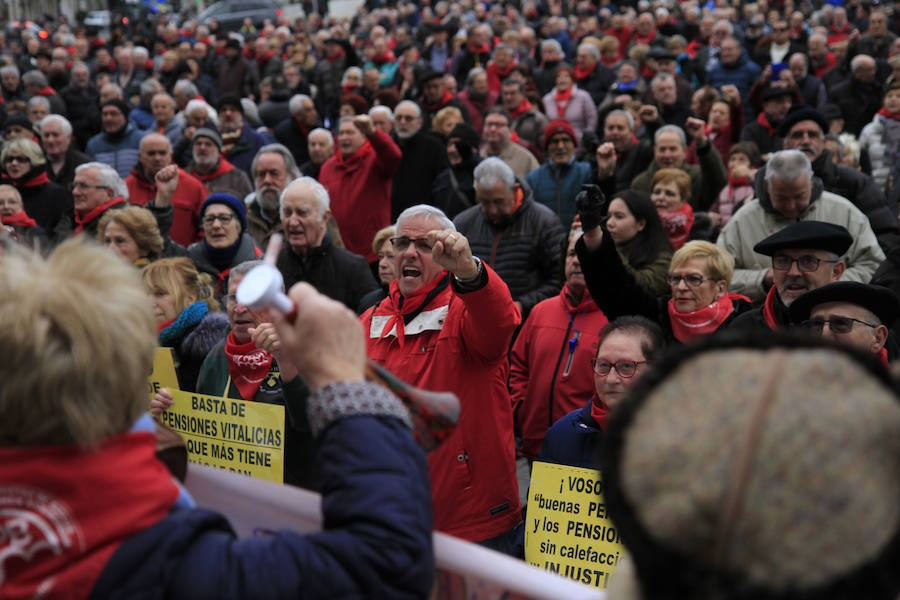
[[[141,270],[181,389],[284,405],[285,481],[320,489],[319,388],[236,299],[281,234],[288,288],[460,399],[435,528],[520,555],[527,465],[596,466],[667,346],[797,329],[900,358],[898,31],[856,0],[7,24],[0,241]]]

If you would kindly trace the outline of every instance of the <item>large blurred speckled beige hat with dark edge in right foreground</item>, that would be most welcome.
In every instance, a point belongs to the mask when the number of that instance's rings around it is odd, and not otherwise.
[[[871,357],[712,336],[658,362],[606,433],[644,600],[897,597],[900,402]]]

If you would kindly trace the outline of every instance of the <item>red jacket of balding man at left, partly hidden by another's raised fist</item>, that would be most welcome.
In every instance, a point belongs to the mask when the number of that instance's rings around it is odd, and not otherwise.
[[[146,206],[148,202],[156,198],[156,184],[151,183],[145,176],[140,165],[131,170],[131,175],[125,178],[128,186],[128,201],[132,204]],[[203,237],[200,231],[200,205],[206,200],[206,186],[196,177],[178,169],[178,187],[172,194],[172,229],[169,237],[185,248],[200,241]]]

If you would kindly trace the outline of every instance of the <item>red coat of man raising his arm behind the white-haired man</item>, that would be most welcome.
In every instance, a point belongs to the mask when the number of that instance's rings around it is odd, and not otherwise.
[[[400,148],[376,129],[356,154],[340,151],[325,161],[319,182],[328,190],[331,213],[350,252],[375,262],[372,240],[391,224],[391,180],[400,167]],[[424,202],[423,198],[423,202]]]

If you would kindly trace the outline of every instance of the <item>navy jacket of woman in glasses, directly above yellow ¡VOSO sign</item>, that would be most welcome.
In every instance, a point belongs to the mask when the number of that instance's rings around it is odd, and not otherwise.
[[[553,424],[544,437],[539,461],[597,468],[597,452],[603,441],[603,430],[591,416],[591,402],[573,410]]]

